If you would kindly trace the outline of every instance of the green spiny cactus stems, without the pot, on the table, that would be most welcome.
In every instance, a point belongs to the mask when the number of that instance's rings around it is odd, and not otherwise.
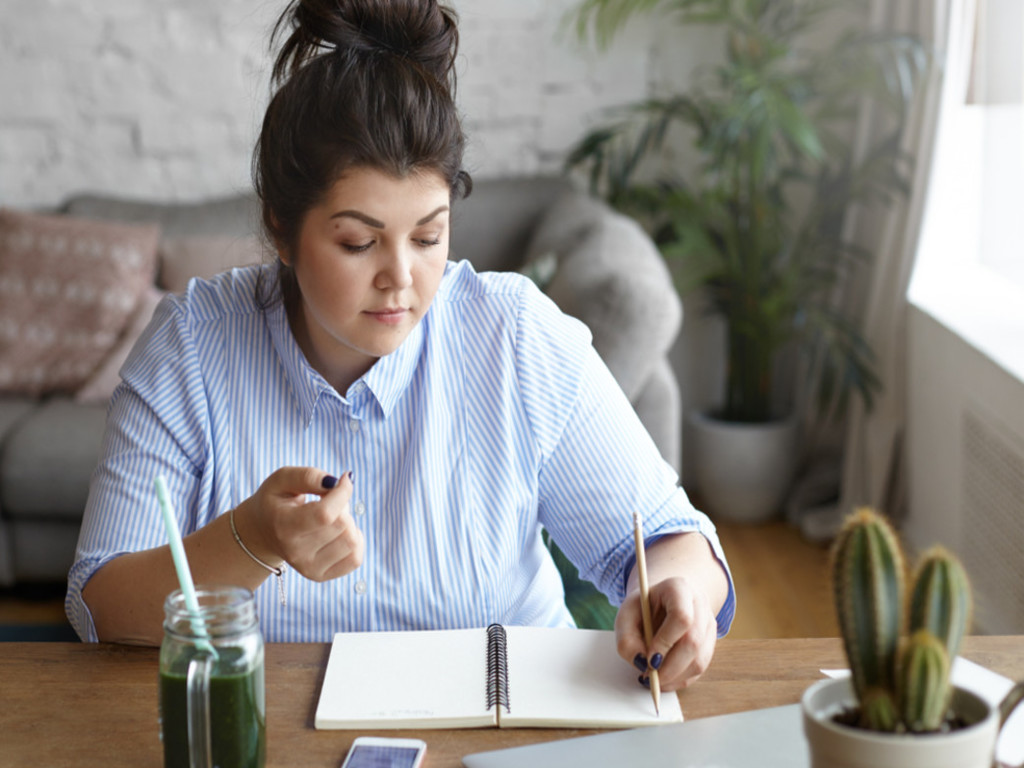
[[[970,585],[959,560],[936,547],[922,558],[904,608],[904,562],[881,514],[864,507],[847,518],[833,547],[840,632],[860,703],[858,724],[934,731],[949,707],[949,669],[970,622]]]

